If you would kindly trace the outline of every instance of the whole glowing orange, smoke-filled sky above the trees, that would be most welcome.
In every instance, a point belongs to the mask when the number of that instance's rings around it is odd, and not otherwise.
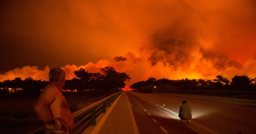
[[[0,81],[106,66],[128,84],[256,77],[255,0],[12,0],[0,17]]]

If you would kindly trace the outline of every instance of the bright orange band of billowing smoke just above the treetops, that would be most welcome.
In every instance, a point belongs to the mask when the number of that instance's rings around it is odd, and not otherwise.
[[[154,54],[154,53],[153,53]],[[147,58],[139,58],[131,52],[127,53],[123,59],[119,62],[109,61],[103,59],[97,63],[88,63],[83,66],[66,65],[62,67],[66,71],[66,79],[72,79],[74,77],[73,72],[79,68],[85,68],[89,72],[98,72],[100,68],[111,66],[119,72],[126,72],[132,79],[127,82],[130,85],[134,82],[147,80],[150,77],[156,79],[167,78],[171,80],[177,79],[214,79],[216,75],[224,75],[231,79],[234,75],[248,75],[251,78],[256,77],[256,57],[249,59],[242,65],[229,60],[219,61],[219,59],[207,59],[202,58],[199,60],[190,61],[190,67],[177,66],[171,64],[165,60],[165,62],[159,60],[152,65],[151,60]],[[226,62],[229,61],[229,62]],[[221,62],[224,63],[223,66]],[[182,65],[182,64],[180,64]],[[218,65],[218,66],[217,66]],[[49,67],[45,67],[44,70],[39,70],[37,67],[26,66],[22,68],[16,68],[11,71],[7,71],[4,75],[0,75],[0,80],[13,80],[16,77],[25,79],[26,77],[32,77],[37,80],[48,80]]]

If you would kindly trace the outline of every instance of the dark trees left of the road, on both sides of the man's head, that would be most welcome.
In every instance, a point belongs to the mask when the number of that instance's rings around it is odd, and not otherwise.
[[[63,89],[69,89],[73,92],[116,92],[124,88],[125,81],[131,78],[124,72],[115,71],[114,67],[100,68],[97,73],[85,71],[80,68],[73,72],[74,78],[66,80]],[[0,93],[8,93],[10,90],[13,92],[26,92],[33,94],[40,93],[49,81],[34,80],[31,77],[22,80],[20,77],[14,80],[4,80],[0,82]]]

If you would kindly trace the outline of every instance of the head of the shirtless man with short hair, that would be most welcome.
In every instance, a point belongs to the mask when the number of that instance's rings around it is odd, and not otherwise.
[[[66,77],[66,73],[61,68],[55,67],[49,71],[49,81],[59,82]]]

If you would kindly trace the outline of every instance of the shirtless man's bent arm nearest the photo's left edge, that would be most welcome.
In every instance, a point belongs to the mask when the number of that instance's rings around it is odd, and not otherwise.
[[[56,97],[57,88],[53,86],[45,87],[36,101],[34,109],[37,115],[45,124],[52,124],[53,114],[50,105]]]

